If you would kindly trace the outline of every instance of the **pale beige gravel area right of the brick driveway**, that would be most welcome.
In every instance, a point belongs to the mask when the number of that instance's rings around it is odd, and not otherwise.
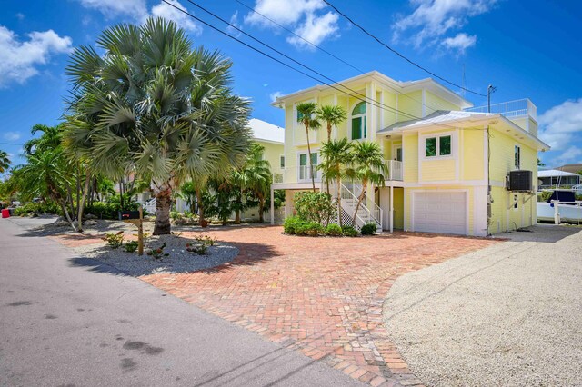
[[[582,385],[582,228],[532,230],[391,288],[387,331],[427,385]]]

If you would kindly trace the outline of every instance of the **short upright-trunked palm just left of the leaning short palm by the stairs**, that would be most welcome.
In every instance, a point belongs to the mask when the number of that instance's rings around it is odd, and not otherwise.
[[[324,143],[321,148],[324,162],[320,165],[323,177],[327,183],[327,193],[329,193],[329,182],[335,180],[337,186],[337,212],[338,222],[342,226],[341,208],[342,197],[340,194],[342,178],[347,175],[347,167],[352,161],[352,149],[354,144],[346,138],[331,140]]]

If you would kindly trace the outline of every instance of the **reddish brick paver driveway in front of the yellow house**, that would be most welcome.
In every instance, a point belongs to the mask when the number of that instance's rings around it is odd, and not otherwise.
[[[427,233],[296,237],[279,226],[207,234],[235,244],[236,260],[204,272],[141,278],[372,385],[421,383],[382,324],[382,303],[396,278],[495,243]]]

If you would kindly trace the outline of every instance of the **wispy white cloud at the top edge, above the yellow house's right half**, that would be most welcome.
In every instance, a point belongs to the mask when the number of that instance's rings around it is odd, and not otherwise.
[[[450,30],[467,25],[469,17],[487,13],[496,3],[497,0],[410,0],[415,10],[397,19],[393,39],[398,41],[410,34],[416,48],[436,45]]]

